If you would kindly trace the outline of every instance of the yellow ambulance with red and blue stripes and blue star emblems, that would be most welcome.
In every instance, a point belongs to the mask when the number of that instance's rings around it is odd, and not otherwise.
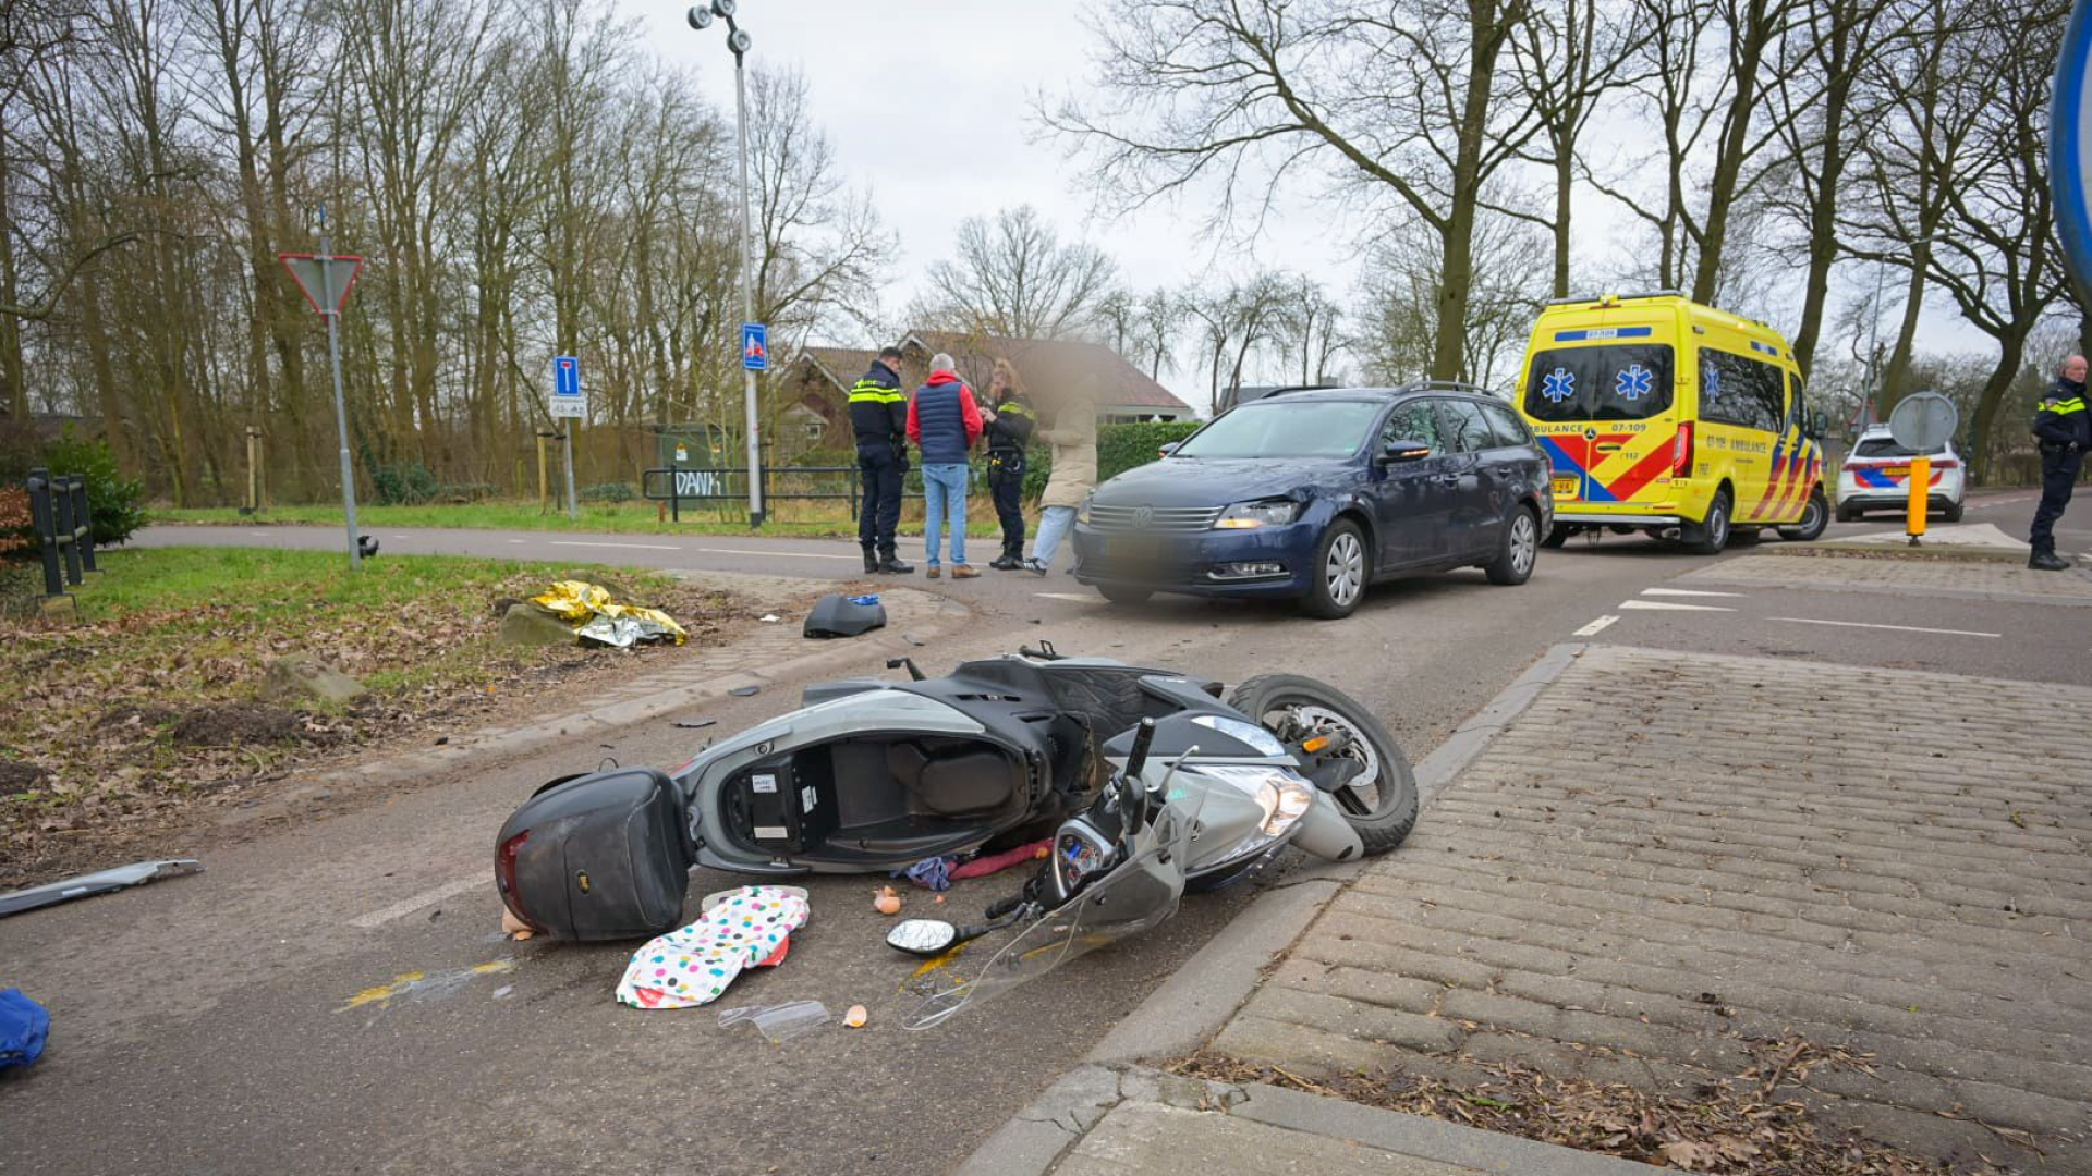
[[[1611,529],[1713,555],[1764,527],[1814,540],[1830,521],[1820,416],[1764,322],[1674,291],[1554,301],[1517,406],[1554,465],[1548,546]]]

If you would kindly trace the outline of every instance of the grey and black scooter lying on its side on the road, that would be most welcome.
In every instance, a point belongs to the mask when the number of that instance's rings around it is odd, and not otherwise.
[[[1195,885],[1238,879],[1287,843],[1331,860],[1381,854],[1416,820],[1416,783],[1385,726],[1312,678],[1251,678],[1222,703],[1220,682],[1052,647],[943,678],[889,665],[910,680],[808,686],[801,709],[672,774],[552,781],[496,841],[504,904],[554,937],[638,937],[680,923],[690,864],[887,873],[1021,845],[1094,808],[1142,720],[1157,722],[1157,755],[1199,745],[1201,781],[1261,814],[1201,850],[1184,870]]]

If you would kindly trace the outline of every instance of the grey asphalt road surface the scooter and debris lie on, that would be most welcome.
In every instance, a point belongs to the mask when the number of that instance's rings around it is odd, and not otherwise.
[[[1971,511],[2025,527],[2031,500]],[[1877,527],[1839,527],[1841,534]],[[377,532],[389,552],[479,552],[649,567],[856,578],[847,542],[676,536]],[[2086,532],[2065,536],[2084,550]],[[326,527],[153,529],[144,544],[331,546]],[[602,546],[588,546],[602,544]],[[1186,668],[1226,680],[1291,670],[1379,709],[1412,760],[1546,647],[1617,615],[1592,640],[1883,663],[1914,649],[1939,668],[2084,680],[2069,642],[1931,638],[1774,617],[1893,621],[1969,632],[2077,624],[2082,609],[1845,592],[1680,590],[1707,561],[1642,540],[1542,552],[1523,588],[1479,571],[1379,588],[1347,621],[1278,605],[1163,601],[1113,609],[1065,575],[987,573],[937,588],[975,607],[964,634],[918,651],[969,655],[1054,640],[1063,651]],[[914,580],[916,586],[925,582]],[[1690,590],[1686,586],[1684,590]],[[1628,609],[1625,601],[1734,609]],[[2082,630],[2082,626],[2079,626]],[[1893,649],[1885,644],[1897,640]],[[2079,638],[2077,647],[2084,644]],[[881,672],[866,653],[843,672]],[[722,728],[789,707],[797,684],[707,707]],[[559,705],[548,699],[548,705]],[[1835,724],[1826,716],[1826,724]],[[1592,732],[1602,739],[1605,732]],[[538,783],[619,762],[680,764],[692,732],[667,720],[452,772],[347,814],[201,845],[209,873],[0,923],[0,983],[54,1013],[50,1057],[0,1080],[0,1157],[19,1172],[810,1172],[927,1174],[964,1157],[1123,1017],[1251,898],[1201,896],[1157,933],[969,1011],[927,1034],[897,1021],[910,971],[881,942],[872,879],[820,879],[791,958],[720,1002],[814,998],[872,1023],[782,1046],[722,1030],[713,1011],[634,1013],[611,1000],[630,946],[506,944],[487,858],[500,820]],[[1429,814],[1427,814],[1429,820]],[[699,877],[692,898],[732,885]],[[912,891],[910,912],[969,914],[1017,879],[969,883],[952,904]],[[475,965],[513,971],[469,973]],[[391,1000],[354,998],[423,973]]]

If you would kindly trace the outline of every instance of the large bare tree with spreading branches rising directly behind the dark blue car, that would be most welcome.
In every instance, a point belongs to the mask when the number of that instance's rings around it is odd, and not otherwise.
[[[1458,377],[1475,222],[1540,130],[1502,67],[1525,19],[1527,0],[1134,0],[1094,13],[1102,94],[1042,117],[1134,203],[1211,182],[1215,220],[1259,220],[1312,176],[1429,226],[1446,266],[1431,375]]]

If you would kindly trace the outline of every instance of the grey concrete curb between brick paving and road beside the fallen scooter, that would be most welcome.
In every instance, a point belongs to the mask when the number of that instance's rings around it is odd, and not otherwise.
[[[1584,653],[1584,644],[1554,644],[1540,659],[1519,674],[1473,718],[1454,728],[1437,749],[1416,764],[1418,806],[1429,806],[1446,785],[1450,785],[1469,764],[1487,749],[1490,741],[1508,726],[1554,678],[1559,678]],[[1360,868],[1358,862],[1303,870],[1272,887],[1241,914],[1234,917],[1211,942],[1186,960],[1161,988],[1149,994],[1105,1040],[1090,1050],[1082,1065],[1046,1088],[1029,1107],[1017,1111],[996,1134],[987,1136],[973,1155],[956,1170],[956,1176],[1033,1176],[1050,1172],[1052,1166],[1082,1136],[1094,1128],[1115,1105],[1128,1099],[1159,1101],[1149,1094],[1167,1090],[1182,1096],[1190,1080],[1144,1069],[1140,1059],[1172,1057],[1192,1053],[1213,1038],[1228,1023],[1228,1017],[1257,988],[1259,973],[1278,952],[1284,952],[1299,937],[1301,929],[1314,923],[1316,914],[1337,898],[1343,885]],[[1140,1076],[1134,1080],[1134,1076]],[[1257,1103],[1259,1117],[1272,1126],[1312,1134],[1345,1132],[1343,1138],[1400,1138],[1402,1147],[1423,1138],[1460,1138],[1466,1151],[1460,1155],[1517,1153],[1519,1163],[1483,1168],[1485,1172],[1550,1172],[1561,1176],[1623,1176],[1648,1172],[1646,1166],[1621,1159],[1594,1157],[1582,1151],[1556,1149],[1513,1136],[1498,1136],[1475,1128],[1439,1124],[1418,1115],[1397,1115],[1374,1107],[1360,1107],[1337,1099],[1318,1099],[1276,1090],[1270,1086],[1226,1086],[1197,1082],[1205,1086],[1203,1096],[1188,1109],[1209,1111],[1215,1107],[1230,1113],[1249,1113],[1245,1099]],[[1138,1090],[1138,1092],[1136,1092]],[[1320,1107],[1320,1109],[1316,1109]],[[1318,1126],[1320,1124],[1320,1126]],[[1374,1132],[1364,1126],[1377,1124]],[[1358,1134],[1364,1132],[1364,1134]],[[1481,1136],[1469,1140],[1446,1132],[1466,1132]],[[1517,1147],[1513,1147],[1517,1145]],[[1458,1149],[1454,1149],[1458,1151]],[[1448,1151],[1452,1155],[1454,1151]],[[1460,1159],[1477,1163],[1475,1159]]]

